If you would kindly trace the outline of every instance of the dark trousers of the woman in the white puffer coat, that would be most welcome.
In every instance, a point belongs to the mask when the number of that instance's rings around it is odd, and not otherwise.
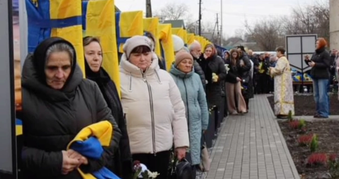
[[[147,169],[151,172],[158,172],[157,179],[167,179],[169,164],[170,164],[170,151],[161,151],[154,154],[139,153],[132,155],[133,161],[140,161],[141,164],[145,164]]]

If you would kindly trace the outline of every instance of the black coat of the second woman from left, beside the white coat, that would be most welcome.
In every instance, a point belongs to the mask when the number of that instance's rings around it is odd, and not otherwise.
[[[120,178],[130,179],[132,176],[132,155],[129,147],[126,122],[123,117],[123,107],[120,102],[118,90],[115,83],[111,80],[103,68],[100,68],[99,72],[94,73],[88,66],[87,62],[85,62],[85,67],[86,77],[93,80],[99,86],[122,133],[119,149],[114,153],[114,159],[112,159],[111,163],[108,164],[107,167]]]

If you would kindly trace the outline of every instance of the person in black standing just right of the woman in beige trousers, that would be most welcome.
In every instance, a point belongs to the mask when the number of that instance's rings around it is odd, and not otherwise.
[[[252,80],[252,75],[250,72],[252,68],[252,64],[245,51],[243,51],[241,48],[238,48],[238,52],[239,52],[239,60],[240,60],[239,72],[241,74],[243,86],[247,87],[247,89],[244,90],[243,96],[246,102],[246,107],[247,107],[247,112],[248,112],[249,99],[254,97],[253,80]]]

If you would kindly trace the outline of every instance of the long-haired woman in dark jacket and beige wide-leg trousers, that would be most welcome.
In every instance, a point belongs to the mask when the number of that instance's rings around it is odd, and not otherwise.
[[[239,52],[236,49],[231,50],[231,56],[226,60],[226,64],[229,65],[229,71],[227,73],[225,82],[225,89],[227,95],[227,106],[231,115],[238,113],[246,113],[246,102],[241,93],[241,65],[239,60]],[[235,100],[237,103],[235,103]]]

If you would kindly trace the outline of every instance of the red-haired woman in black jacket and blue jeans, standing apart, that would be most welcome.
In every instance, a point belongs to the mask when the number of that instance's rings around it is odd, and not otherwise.
[[[330,77],[330,54],[325,47],[327,42],[324,38],[317,40],[315,53],[311,60],[305,62],[311,66],[311,77],[313,79],[313,95],[316,103],[316,114],[314,118],[328,118],[329,115],[329,97],[328,83]]]

